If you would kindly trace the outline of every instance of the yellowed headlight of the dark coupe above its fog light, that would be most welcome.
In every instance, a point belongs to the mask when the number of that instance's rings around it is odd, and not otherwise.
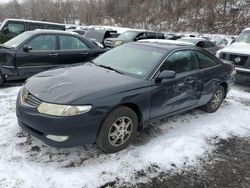
[[[47,114],[52,116],[75,116],[79,114],[87,113],[91,110],[92,106],[69,106],[69,105],[59,105],[50,103],[41,103],[37,110],[41,114]]]

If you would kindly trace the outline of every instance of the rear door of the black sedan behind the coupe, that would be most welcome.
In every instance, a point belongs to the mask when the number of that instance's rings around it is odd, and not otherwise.
[[[76,36],[59,35],[59,63],[62,65],[88,62],[93,58],[93,51]]]

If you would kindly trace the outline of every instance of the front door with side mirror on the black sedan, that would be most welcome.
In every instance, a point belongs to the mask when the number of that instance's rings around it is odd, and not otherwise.
[[[20,76],[27,78],[58,66],[55,34],[39,34],[27,41],[16,54],[16,67]],[[29,50],[24,50],[24,48]]]

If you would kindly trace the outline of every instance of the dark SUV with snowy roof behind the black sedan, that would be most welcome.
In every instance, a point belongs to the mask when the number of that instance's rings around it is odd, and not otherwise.
[[[51,22],[6,19],[0,26],[0,44],[16,37],[25,31],[32,31],[35,29],[65,30],[65,26]]]

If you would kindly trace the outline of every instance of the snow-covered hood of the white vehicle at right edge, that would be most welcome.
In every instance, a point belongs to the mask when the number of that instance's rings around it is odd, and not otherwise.
[[[250,44],[244,42],[235,42],[232,45],[223,48],[221,52],[250,55]]]

